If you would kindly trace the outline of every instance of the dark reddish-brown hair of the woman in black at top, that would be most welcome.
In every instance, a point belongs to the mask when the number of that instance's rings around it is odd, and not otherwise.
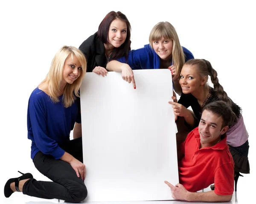
[[[130,22],[128,21],[127,17],[125,14],[121,13],[120,11],[111,11],[109,12],[105,18],[102,20],[102,22],[99,24],[99,29],[97,32],[97,35],[99,36],[99,39],[102,41],[102,43],[107,44],[108,43],[108,30],[113,22],[113,20],[122,20],[126,23],[127,25],[127,35],[125,42],[119,47],[119,48],[114,48],[112,51],[112,56],[111,60],[118,59],[120,57],[125,56],[126,58],[128,57],[129,51],[131,50],[131,25]]]

